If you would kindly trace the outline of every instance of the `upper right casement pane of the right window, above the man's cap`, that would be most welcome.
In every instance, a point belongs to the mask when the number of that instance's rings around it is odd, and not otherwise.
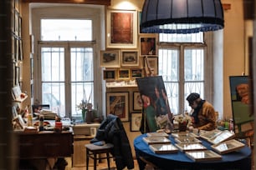
[[[184,52],[184,58],[185,81],[202,81],[204,79],[203,50],[186,49]]]

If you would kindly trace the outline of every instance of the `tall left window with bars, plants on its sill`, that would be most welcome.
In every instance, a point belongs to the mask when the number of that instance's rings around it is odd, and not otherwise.
[[[91,19],[41,18],[38,100],[61,117],[80,117],[82,100],[95,104],[95,41]]]

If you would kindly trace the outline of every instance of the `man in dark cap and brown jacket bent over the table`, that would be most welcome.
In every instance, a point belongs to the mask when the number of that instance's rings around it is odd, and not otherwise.
[[[217,127],[215,110],[210,102],[202,100],[196,92],[188,95],[187,102],[192,107],[192,128],[211,131]]]

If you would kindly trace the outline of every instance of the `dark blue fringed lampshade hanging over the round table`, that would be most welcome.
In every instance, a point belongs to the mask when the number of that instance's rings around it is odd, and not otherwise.
[[[145,0],[141,32],[196,33],[224,28],[220,0]]]

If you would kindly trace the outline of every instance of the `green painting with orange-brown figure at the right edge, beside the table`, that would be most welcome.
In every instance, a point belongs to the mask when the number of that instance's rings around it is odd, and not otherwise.
[[[252,92],[248,76],[231,76],[230,92],[235,133],[251,130],[253,123]],[[243,128],[244,127],[244,128]],[[243,130],[244,129],[244,130]]]

